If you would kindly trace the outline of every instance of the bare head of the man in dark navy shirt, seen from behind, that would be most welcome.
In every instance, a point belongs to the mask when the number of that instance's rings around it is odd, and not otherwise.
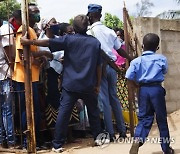
[[[86,34],[88,27],[88,18],[86,15],[78,15],[73,20],[73,28],[75,33]]]

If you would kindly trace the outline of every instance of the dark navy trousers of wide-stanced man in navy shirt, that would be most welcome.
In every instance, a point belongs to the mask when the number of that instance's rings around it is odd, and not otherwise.
[[[65,143],[70,116],[74,104],[79,98],[83,99],[87,106],[89,123],[94,139],[99,133],[101,133],[97,95],[94,93],[83,94],[69,92],[63,89],[60,99],[59,113],[56,120],[54,140],[52,141],[55,149],[62,147]]]

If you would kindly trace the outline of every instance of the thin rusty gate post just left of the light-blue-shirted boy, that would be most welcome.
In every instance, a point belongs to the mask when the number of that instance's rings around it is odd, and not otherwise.
[[[123,8],[123,22],[124,22],[124,39],[125,39],[125,45],[126,45],[126,51],[128,54],[130,54],[130,48],[129,48],[129,34],[128,34],[128,28],[127,28],[127,10],[124,4]],[[129,63],[127,63],[127,67],[129,67]],[[128,85],[128,102],[129,102],[129,118],[130,118],[130,133],[131,137],[134,136],[134,115],[133,115],[133,88],[131,85],[131,82],[127,81]]]

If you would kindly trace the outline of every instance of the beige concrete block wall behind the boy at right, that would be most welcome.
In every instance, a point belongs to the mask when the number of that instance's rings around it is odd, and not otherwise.
[[[167,111],[180,109],[180,20],[158,18],[137,18],[133,22],[134,33],[140,42],[146,33],[160,36],[160,49],[168,59],[169,70],[164,81],[166,89]],[[140,54],[139,50],[139,54]]]

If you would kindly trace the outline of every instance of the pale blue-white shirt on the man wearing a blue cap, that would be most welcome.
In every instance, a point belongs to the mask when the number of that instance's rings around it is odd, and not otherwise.
[[[117,57],[112,52],[113,48],[118,50],[121,47],[121,42],[117,38],[116,33],[114,30],[106,27],[100,21],[93,23],[87,31],[88,35],[92,35],[96,37],[101,43],[101,49],[116,61]]]

